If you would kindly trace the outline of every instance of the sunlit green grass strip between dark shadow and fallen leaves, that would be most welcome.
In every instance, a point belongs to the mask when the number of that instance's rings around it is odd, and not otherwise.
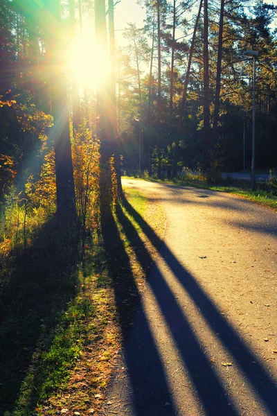
[[[78,293],[80,295],[80,292]],[[47,399],[55,390],[62,390],[69,379],[70,369],[76,363],[84,342],[84,322],[93,314],[92,305],[84,297],[69,301],[68,309],[60,311],[44,325],[33,354],[32,365],[21,385],[12,415],[28,415],[33,402],[33,390],[39,386],[38,402]],[[56,327],[53,329],[53,323]],[[53,331],[48,336],[48,331]]]

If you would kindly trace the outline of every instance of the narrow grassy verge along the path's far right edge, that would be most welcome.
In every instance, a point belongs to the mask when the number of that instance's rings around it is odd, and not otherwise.
[[[136,179],[132,177],[132,179]],[[193,173],[187,173],[180,178],[174,178],[172,180],[159,180],[157,177],[145,177],[145,180],[151,180],[153,182],[175,184],[184,187],[195,187],[202,189],[211,189],[212,191],[220,191],[232,193],[240,198],[245,198],[256,202],[259,205],[268,207],[277,211],[277,186],[270,186],[269,184],[259,183],[256,184],[256,190],[251,190],[251,182],[249,180],[235,180],[231,178],[222,179],[216,184],[208,184],[204,177],[199,175],[193,175]]]

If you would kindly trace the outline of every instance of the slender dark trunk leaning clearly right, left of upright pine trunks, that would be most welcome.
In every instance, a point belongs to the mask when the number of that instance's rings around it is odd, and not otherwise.
[[[177,137],[175,140],[175,153],[174,153],[174,162],[173,162],[173,176],[175,177],[177,176],[177,162],[179,159],[179,142],[180,142],[180,137],[181,137],[181,131],[183,129],[183,124],[184,124],[184,112],[186,109],[186,96],[187,96],[187,91],[188,91],[188,80],[190,78],[190,67],[191,67],[191,61],[193,60],[193,50],[195,48],[195,37],[196,37],[197,26],[199,24],[199,19],[201,15],[202,4],[203,4],[203,0],[200,0],[199,10],[198,10],[197,18],[195,21],[195,27],[193,30],[193,38],[190,44],[190,53],[188,56],[188,67],[186,69],[186,78],[185,78],[185,83],[184,83],[181,107],[179,111],[179,123],[178,123]]]

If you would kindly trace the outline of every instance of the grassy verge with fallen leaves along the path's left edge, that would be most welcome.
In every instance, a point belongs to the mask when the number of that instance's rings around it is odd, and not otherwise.
[[[150,205],[135,189],[125,195],[162,236],[159,201]],[[2,270],[8,285],[0,296],[1,414],[98,414],[145,281],[123,217],[141,233],[121,205],[109,238],[97,229],[87,241],[84,264],[73,247],[57,250],[55,225],[47,224],[24,257]]]

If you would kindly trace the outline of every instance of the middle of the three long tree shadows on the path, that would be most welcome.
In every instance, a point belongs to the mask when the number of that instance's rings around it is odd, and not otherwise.
[[[136,257],[147,272],[147,265],[151,261],[150,254],[145,248],[143,241],[141,241],[139,234],[136,232],[136,229],[125,216],[122,209],[118,207],[117,209],[118,220],[120,221],[127,238],[132,243],[132,247],[136,252]],[[157,235],[153,232],[153,239],[155,245],[157,245]],[[154,293],[157,302],[159,303],[161,312],[163,313],[163,318],[166,320],[168,327],[172,333],[172,337],[177,343],[179,352],[181,353],[182,358],[186,368],[188,369],[190,379],[195,386],[199,394],[199,399],[202,401],[202,405],[206,410],[206,415],[238,415],[235,408],[230,406],[230,398],[227,395],[226,390],[217,377],[217,374],[211,367],[211,363],[208,362],[201,345],[195,337],[193,327],[189,324],[186,315],[181,311],[177,301],[170,291],[166,280],[159,272],[158,268],[154,268],[152,271],[151,279],[148,279],[148,284]],[[147,319],[147,318],[146,318]],[[139,344],[144,345],[147,343],[147,340],[143,338],[143,332],[141,332],[141,321],[139,324],[136,324],[136,333],[139,333]],[[125,345],[125,354],[127,357],[130,357],[130,360],[127,360],[129,373],[139,374],[140,375],[140,386],[145,385],[145,379],[150,378],[150,385],[159,384],[159,379],[154,379],[152,375],[152,367],[145,367],[145,359],[139,361],[134,360],[134,336],[132,333],[129,336],[129,340]],[[141,357],[143,358],[143,357]],[[144,395],[143,388],[143,395]],[[139,392],[137,395],[141,395]],[[157,401],[155,398],[154,403]],[[138,413],[138,415],[152,415],[149,410],[149,401],[148,401],[148,412],[147,413]],[[159,413],[157,413],[159,415]]]

